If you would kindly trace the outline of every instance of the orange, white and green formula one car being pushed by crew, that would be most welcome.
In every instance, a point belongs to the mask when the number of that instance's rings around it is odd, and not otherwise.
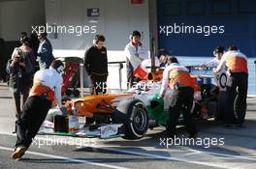
[[[212,70],[202,67],[189,69],[201,86],[201,91],[195,93],[191,113],[195,119],[219,118],[218,89],[209,81],[213,78]],[[142,138],[148,128],[166,126],[169,119],[168,100],[172,91],[168,91],[164,99],[158,97],[162,72],[149,72],[147,80],[139,82],[126,94],[88,96],[67,101],[64,105],[67,108],[66,116],[59,109],[49,112],[52,117],[48,118],[49,122],[43,125],[40,132],[81,137]],[[92,118],[94,123],[80,127],[77,117]]]

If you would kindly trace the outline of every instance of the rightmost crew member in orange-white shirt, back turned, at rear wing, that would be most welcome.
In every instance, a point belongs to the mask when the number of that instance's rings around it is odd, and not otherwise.
[[[236,46],[228,47],[228,51],[224,53],[219,66],[215,70],[218,72],[223,66],[227,67],[227,98],[228,106],[225,112],[225,127],[232,127],[235,121],[238,127],[243,127],[246,113],[246,97],[248,89],[248,68],[247,57],[241,53]],[[234,111],[235,108],[235,111]]]

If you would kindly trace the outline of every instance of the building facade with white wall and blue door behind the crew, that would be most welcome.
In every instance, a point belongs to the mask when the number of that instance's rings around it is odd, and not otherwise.
[[[253,0],[0,0],[0,38],[8,51],[0,61],[6,61],[18,44],[20,32],[30,33],[36,27],[48,29],[55,57],[83,57],[93,37],[103,34],[109,61],[125,61],[124,46],[138,30],[148,52],[154,37],[156,48],[191,57],[196,64],[198,57],[210,59],[217,45],[238,45],[241,52],[256,58]],[[117,78],[116,70],[110,71],[114,75],[109,79]]]

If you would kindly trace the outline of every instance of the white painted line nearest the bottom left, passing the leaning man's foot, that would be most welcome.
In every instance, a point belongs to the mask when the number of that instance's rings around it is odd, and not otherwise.
[[[8,148],[8,147],[2,147],[2,146],[0,146],[0,150],[14,152],[14,149]],[[42,154],[42,153],[30,152],[30,151],[27,151],[26,154],[40,155],[40,156],[45,156],[45,157],[52,157],[52,158],[55,158],[55,159],[66,160],[68,162],[85,163],[85,164],[96,165],[96,166],[105,167],[105,168],[128,169],[128,168],[125,168],[125,167],[118,167],[118,166],[113,166],[113,165],[109,165],[109,164],[96,163],[96,162],[91,162],[91,161],[84,160],[84,159],[76,159],[76,158],[70,158],[70,157],[65,157],[65,156],[60,156],[60,155],[48,155],[48,154]]]

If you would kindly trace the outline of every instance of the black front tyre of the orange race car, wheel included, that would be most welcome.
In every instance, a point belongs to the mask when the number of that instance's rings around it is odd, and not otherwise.
[[[123,107],[125,111],[115,113],[115,123],[123,124],[125,139],[140,139],[148,128],[148,115],[141,100],[135,99]]]

